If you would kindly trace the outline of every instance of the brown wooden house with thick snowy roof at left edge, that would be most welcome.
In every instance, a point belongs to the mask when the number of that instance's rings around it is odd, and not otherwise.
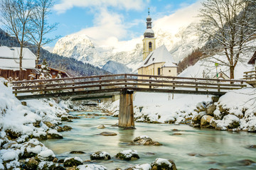
[[[20,51],[20,47],[0,47],[0,77],[18,79]],[[23,48],[22,69],[21,79],[31,79],[30,75],[36,74],[36,55],[26,47]]]

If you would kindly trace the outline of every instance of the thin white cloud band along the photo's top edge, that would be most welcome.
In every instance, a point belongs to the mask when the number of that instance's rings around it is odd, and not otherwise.
[[[61,0],[53,8],[58,13],[64,13],[74,6],[79,7],[107,7],[140,11],[149,3],[149,0]]]

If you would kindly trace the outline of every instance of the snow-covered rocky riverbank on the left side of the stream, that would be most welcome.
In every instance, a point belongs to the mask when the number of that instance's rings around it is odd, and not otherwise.
[[[74,118],[68,112],[85,111],[87,106],[54,99],[21,103],[4,79],[0,91],[0,169],[57,168],[55,154],[40,140],[63,138],[60,132],[72,129],[62,125]]]

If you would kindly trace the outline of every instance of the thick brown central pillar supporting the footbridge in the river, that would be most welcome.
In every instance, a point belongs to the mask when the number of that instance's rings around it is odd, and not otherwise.
[[[121,91],[119,103],[118,126],[123,128],[134,128],[134,110],[132,94],[134,91],[125,89]]]

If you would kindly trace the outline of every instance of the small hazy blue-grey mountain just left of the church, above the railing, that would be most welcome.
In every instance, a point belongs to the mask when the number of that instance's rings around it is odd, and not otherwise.
[[[111,60],[108,61],[102,69],[113,74],[132,73],[132,69],[129,69],[126,65]]]

